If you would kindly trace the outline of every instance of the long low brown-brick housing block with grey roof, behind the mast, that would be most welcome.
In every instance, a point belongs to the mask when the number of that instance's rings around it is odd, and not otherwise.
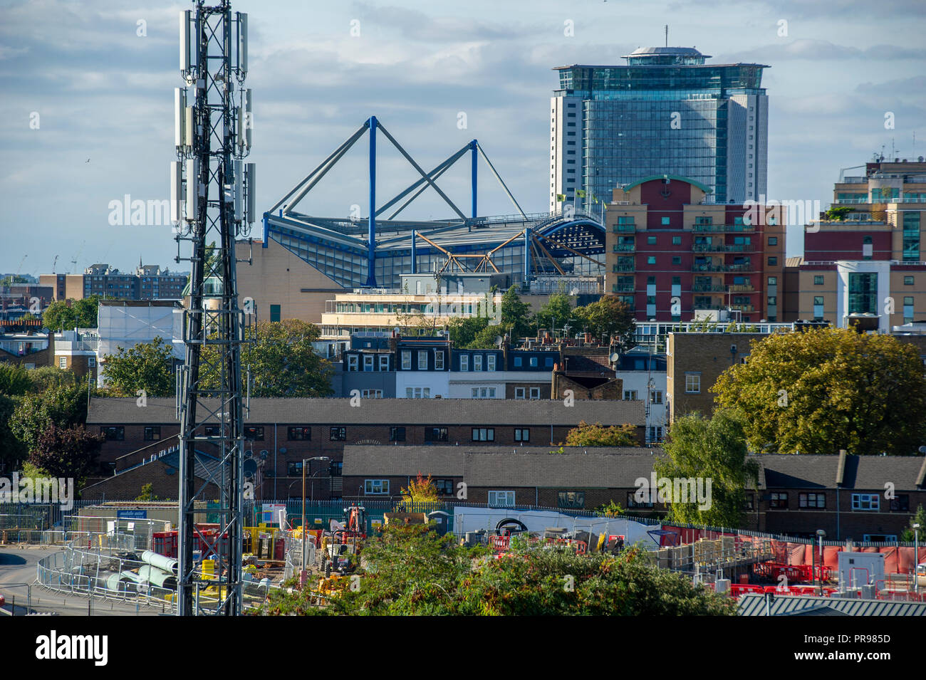
[[[638,441],[644,441],[644,403],[639,401],[577,399],[567,406],[559,400],[512,400],[504,407],[492,399],[367,399],[358,406],[351,406],[351,401],[251,400],[244,450],[261,462],[264,495],[260,497],[272,495],[274,478],[277,495],[300,495],[301,487],[294,482],[302,478],[303,460],[327,456],[330,469],[319,471],[319,463],[313,464],[312,471],[326,479],[315,489],[315,498],[340,498],[343,452],[349,444],[558,447],[581,421],[607,426],[631,423]],[[148,399],[144,407],[135,399],[93,399],[87,427],[106,436],[99,458],[105,477],[88,480],[88,484],[111,480],[106,491],[109,498],[121,488],[116,477],[129,471],[137,476],[139,466],[157,463],[177,447],[179,424],[173,399]],[[207,438],[218,435],[214,431],[218,427],[218,421],[204,426],[204,455],[212,453]],[[151,470],[162,468],[157,465]],[[132,497],[136,495],[138,491]]]

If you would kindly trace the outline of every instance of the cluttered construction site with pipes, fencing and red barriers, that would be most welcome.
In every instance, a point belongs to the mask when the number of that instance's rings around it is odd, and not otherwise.
[[[245,514],[259,521],[244,527],[239,550],[229,545],[227,534],[219,534],[217,523],[208,521],[212,517],[204,506],[196,517],[202,537],[194,549],[201,575],[197,606],[215,606],[227,597],[217,572],[214,547],[219,546],[237,553],[244,565],[245,611],[260,612],[272,590],[294,588],[307,588],[311,601],[325,607],[349,587],[351,575],[363,572],[369,538],[398,522],[427,524],[459,545],[482,545],[496,559],[525,550],[617,555],[635,549],[651,566],[734,600],[894,601],[911,605],[911,614],[926,613],[926,549],[920,549],[917,561],[913,546],[812,541],[544,508],[372,501],[342,507],[313,503],[303,512],[300,505],[265,503],[248,509]],[[107,602],[110,609],[119,603],[123,613],[177,612],[176,503],[88,504],[53,526],[46,525],[52,509],[42,511],[33,506],[29,513],[0,515],[0,544],[55,550],[37,564],[34,582],[0,584],[7,605],[14,605],[4,613],[47,612],[42,599],[50,602],[45,596],[52,594],[87,600],[91,613],[106,610]]]

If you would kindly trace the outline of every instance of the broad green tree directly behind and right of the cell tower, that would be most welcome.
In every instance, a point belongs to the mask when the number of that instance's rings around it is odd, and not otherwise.
[[[248,329],[242,347],[242,372],[250,368],[252,397],[327,397],[332,393],[332,365],[315,352],[319,327],[299,319],[261,321]],[[219,351],[206,345],[201,353],[200,382],[219,387]],[[244,375],[243,375],[244,379]]]

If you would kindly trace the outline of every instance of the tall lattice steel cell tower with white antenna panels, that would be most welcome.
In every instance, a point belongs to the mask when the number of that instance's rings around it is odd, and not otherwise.
[[[251,91],[244,88],[247,15],[232,14],[228,0],[215,6],[199,0],[194,10],[181,11],[180,68],[184,85],[174,91],[178,160],[170,164],[170,205],[176,259],[189,260],[191,276],[177,389],[177,612],[233,616],[241,612],[242,596],[241,347],[253,319],[253,309],[238,307],[235,240],[247,235],[257,212],[255,167],[241,160],[250,152],[252,129]],[[182,241],[192,245],[189,258],[180,256]],[[197,514],[201,523],[218,524],[218,531],[197,528]],[[202,563],[194,562],[194,550],[201,550]]]

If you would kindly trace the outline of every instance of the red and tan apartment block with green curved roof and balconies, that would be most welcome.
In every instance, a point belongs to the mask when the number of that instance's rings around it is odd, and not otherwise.
[[[743,321],[781,318],[780,211],[757,208],[762,218],[754,219],[743,205],[714,204],[706,187],[673,175],[615,189],[606,207],[605,291],[630,304],[638,321],[690,321],[695,309],[728,307]]]

